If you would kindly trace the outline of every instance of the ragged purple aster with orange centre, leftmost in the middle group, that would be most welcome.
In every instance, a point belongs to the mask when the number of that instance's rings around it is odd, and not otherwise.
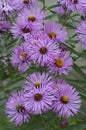
[[[11,57],[11,63],[14,67],[18,67],[18,71],[25,72],[31,65],[31,60],[25,45],[17,46]]]

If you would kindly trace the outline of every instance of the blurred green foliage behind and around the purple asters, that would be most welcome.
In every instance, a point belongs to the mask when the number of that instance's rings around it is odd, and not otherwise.
[[[46,0],[47,1],[47,0]],[[48,112],[43,115],[32,116],[29,123],[22,126],[15,126],[9,122],[5,114],[5,103],[12,92],[21,90],[21,86],[27,75],[34,71],[46,71],[46,68],[33,65],[27,73],[20,74],[10,64],[10,56],[14,46],[21,43],[19,39],[13,39],[10,32],[3,33],[3,39],[0,40],[0,60],[7,57],[7,66],[0,62],[0,130],[86,130],[86,75],[82,69],[86,69],[86,50],[82,49],[76,40],[74,29],[79,23],[80,15],[77,12],[70,13],[66,17],[57,15],[54,8],[59,6],[57,3],[46,5],[46,1],[40,0],[45,11],[49,13],[47,20],[56,20],[66,26],[69,32],[69,39],[66,41],[68,50],[74,60],[73,69],[68,76],[62,76],[67,82],[72,84],[81,95],[82,106],[77,116],[68,119],[68,126],[62,128],[59,119],[54,113]],[[62,43],[63,44],[63,43]],[[3,55],[5,54],[5,55]],[[9,74],[6,73],[8,70]]]

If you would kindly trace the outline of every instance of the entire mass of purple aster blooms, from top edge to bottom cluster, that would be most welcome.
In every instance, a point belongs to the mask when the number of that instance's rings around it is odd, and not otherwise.
[[[70,118],[81,107],[79,92],[64,80],[73,69],[73,58],[66,45],[69,32],[65,20],[64,24],[47,20],[45,10],[37,2],[0,1],[0,38],[8,31],[12,39],[17,39],[10,64],[20,75],[27,75],[22,90],[12,93],[6,103],[5,112],[15,125],[48,111],[59,118]],[[79,15],[86,13],[86,0],[59,0],[55,13],[63,17],[75,10]],[[76,39],[86,47],[86,19],[76,26]],[[28,74],[31,67],[34,72]],[[45,72],[36,72],[36,68],[43,67]]]

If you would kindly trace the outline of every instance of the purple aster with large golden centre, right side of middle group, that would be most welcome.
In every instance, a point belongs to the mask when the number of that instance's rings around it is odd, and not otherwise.
[[[59,75],[65,74],[72,69],[73,61],[67,51],[60,52],[54,56],[51,61],[48,61],[48,67],[51,73],[58,73]]]

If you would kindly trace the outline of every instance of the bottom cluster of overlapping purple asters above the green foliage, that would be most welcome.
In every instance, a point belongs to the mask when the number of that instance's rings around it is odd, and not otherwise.
[[[69,118],[80,109],[80,96],[73,86],[64,80],[52,79],[47,73],[29,75],[23,90],[13,93],[6,103],[6,113],[16,125],[30,121],[30,115],[55,112]]]

